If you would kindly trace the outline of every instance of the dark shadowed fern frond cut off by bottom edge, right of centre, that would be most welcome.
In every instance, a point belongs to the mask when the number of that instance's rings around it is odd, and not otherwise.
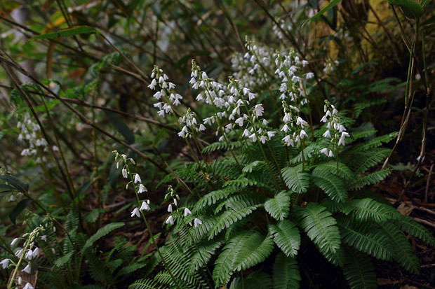
[[[377,288],[375,267],[371,258],[352,248],[344,247],[346,260],[343,266],[343,273],[349,282],[351,289]]]

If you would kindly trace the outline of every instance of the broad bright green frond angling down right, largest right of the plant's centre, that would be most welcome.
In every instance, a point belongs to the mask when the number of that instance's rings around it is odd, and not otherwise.
[[[332,214],[316,203],[309,203],[305,208],[295,207],[294,211],[300,227],[307,232],[309,239],[332,261],[331,256],[338,251],[341,244],[340,232]]]

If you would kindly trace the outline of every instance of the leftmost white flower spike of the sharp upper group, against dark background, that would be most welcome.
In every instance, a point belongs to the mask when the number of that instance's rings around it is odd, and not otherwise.
[[[173,106],[179,106],[182,99],[180,94],[171,92],[175,88],[175,84],[168,81],[168,76],[156,65],[152,70],[151,78],[152,82],[148,87],[156,91],[153,97],[157,100],[163,100],[154,104],[154,107],[159,108],[157,113],[162,117],[168,113],[173,113]]]

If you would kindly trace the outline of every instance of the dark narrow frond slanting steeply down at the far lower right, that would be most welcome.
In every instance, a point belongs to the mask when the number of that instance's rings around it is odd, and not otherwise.
[[[413,251],[413,247],[399,230],[399,227],[394,223],[385,223],[382,225],[382,230],[389,237],[389,243],[393,249],[393,259],[408,272],[417,274],[420,270],[420,262]]]

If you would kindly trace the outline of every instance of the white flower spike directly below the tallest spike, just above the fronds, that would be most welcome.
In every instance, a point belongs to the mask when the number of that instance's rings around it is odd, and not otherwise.
[[[283,137],[284,143],[286,146],[295,146],[295,143],[300,143],[302,139],[308,136],[307,132],[305,132],[305,128],[308,127],[308,122],[303,120],[299,116],[299,108],[296,106],[291,106],[283,101],[284,108],[284,117],[283,117],[283,127],[281,128],[281,132],[287,134]],[[296,115],[295,115],[296,113]],[[290,129],[290,127],[295,128],[295,130]],[[292,134],[293,130],[293,134]]]

